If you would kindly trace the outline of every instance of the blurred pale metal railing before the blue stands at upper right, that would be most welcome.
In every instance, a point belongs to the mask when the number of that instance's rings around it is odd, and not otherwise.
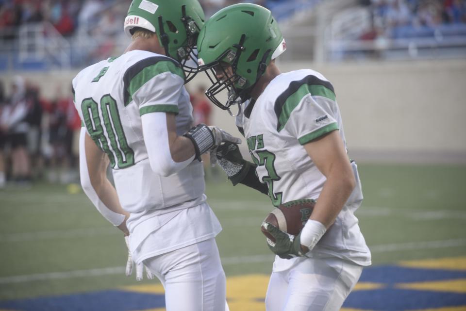
[[[326,61],[351,59],[465,58],[466,24],[436,27],[402,26],[361,39],[374,31],[367,8],[351,9],[333,16],[325,31]]]

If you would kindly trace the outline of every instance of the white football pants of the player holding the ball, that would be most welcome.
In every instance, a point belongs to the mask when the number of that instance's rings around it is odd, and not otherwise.
[[[266,311],[339,311],[362,271],[362,266],[337,258],[310,258],[272,272]]]

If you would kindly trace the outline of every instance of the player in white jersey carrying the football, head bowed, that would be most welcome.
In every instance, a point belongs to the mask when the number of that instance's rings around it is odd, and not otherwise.
[[[268,246],[277,256],[266,310],[339,310],[371,258],[354,216],[363,199],[361,183],[347,154],[333,85],[311,69],[280,72],[275,59],[285,41],[270,11],[259,5],[235,4],[217,12],[201,30],[197,47],[201,69],[212,81],[206,95],[225,110],[240,106],[236,125],[253,163],[243,160],[234,144],[217,152],[233,184],[268,194],[275,207],[317,200],[296,237],[267,224],[275,238]],[[218,99],[223,90],[226,103]]]

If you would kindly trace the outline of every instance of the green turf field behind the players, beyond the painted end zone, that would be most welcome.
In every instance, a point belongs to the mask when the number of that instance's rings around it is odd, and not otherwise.
[[[466,166],[359,166],[365,200],[357,212],[373,264],[466,255]],[[271,270],[261,221],[269,199],[225,179],[207,183],[223,231],[228,276]],[[82,191],[36,184],[0,192],[0,299],[135,284],[124,276],[126,246]],[[146,282],[146,281],[144,281]]]

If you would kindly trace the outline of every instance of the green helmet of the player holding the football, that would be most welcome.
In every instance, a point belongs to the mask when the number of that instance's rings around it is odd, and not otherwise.
[[[256,4],[239,3],[218,11],[205,23],[197,48],[199,69],[212,82],[205,94],[218,107],[230,111],[233,104],[250,98],[267,65],[284,52],[286,44],[269,10]],[[219,80],[214,68],[224,68],[222,63],[232,66],[233,76]],[[225,89],[228,99],[223,105],[216,95]]]

